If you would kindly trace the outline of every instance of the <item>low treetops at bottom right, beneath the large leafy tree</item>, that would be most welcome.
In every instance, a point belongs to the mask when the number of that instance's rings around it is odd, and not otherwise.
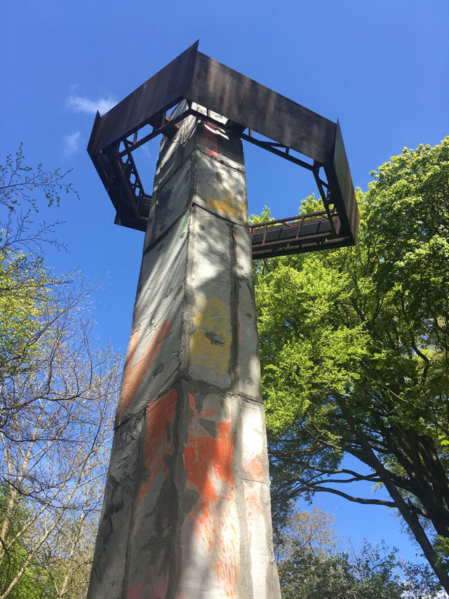
[[[426,599],[439,588],[429,568],[404,562],[384,544],[365,541],[355,550],[319,508],[292,511],[275,546],[284,599]]]

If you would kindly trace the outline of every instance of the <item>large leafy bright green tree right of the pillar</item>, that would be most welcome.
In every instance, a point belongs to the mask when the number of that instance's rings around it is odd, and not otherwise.
[[[449,591],[449,138],[372,174],[358,246],[255,265],[273,500],[394,508]]]

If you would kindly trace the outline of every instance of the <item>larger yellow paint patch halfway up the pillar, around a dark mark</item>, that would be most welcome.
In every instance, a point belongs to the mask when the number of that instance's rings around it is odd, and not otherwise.
[[[190,338],[191,363],[224,374],[229,370],[231,360],[229,307],[220,298],[196,296],[195,302],[195,331]]]

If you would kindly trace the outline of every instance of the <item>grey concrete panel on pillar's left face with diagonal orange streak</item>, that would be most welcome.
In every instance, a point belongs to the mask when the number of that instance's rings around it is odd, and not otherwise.
[[[116,426],[179,376],[189,214],[143,256]]]

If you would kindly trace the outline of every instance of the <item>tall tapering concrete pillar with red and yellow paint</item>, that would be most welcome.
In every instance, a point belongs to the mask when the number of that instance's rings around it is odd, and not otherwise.
[[[216,116],[216,115],[215,115]],[[165,140],[90,599],[278,599],[240,138]]]

